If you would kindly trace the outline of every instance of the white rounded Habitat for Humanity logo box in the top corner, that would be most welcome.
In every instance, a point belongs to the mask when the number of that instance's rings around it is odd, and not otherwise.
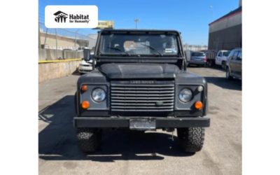
[[[97,25],[97,6],[45,6],[45,27],[95,28]]]

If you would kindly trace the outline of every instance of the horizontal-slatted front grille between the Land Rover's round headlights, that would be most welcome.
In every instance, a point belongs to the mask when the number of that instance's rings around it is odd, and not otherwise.
[[[111,111],[173,111],[173,84],[111,83]]]

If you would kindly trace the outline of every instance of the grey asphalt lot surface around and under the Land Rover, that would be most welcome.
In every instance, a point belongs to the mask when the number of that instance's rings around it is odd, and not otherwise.
[[[76,141],[73,95],[78,75],[40,83],[39,174],[241,174],[241,81],[221,69],[190,67],[209,88],[204,148],[182,153],[176,132],[104,130],[102,149],[85,155]]]

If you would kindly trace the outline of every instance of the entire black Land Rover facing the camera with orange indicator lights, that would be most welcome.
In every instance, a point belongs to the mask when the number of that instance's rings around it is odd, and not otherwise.
[[[84,59],[93,71],[78,79],[73,119],[82,151],[99,148],[102,128],[176,129],[184,151],[202,149],[207,82],[186,71],[178,31],[104,29]]]

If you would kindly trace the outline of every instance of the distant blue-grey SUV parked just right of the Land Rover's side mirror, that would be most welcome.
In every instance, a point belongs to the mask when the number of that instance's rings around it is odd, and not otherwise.
[[[207,57],[204,52],[187,51],[188,64],[195,64],[197,66],[206,66]]]

